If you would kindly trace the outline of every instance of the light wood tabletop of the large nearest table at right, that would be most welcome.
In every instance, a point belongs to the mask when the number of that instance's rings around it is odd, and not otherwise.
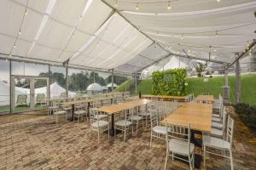
[[[191,129],[211,133],[212,104],[188,102],[167,116],[162,123],[190,124]]]

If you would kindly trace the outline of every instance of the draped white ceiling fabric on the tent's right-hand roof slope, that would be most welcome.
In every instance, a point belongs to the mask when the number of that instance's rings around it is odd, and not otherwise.
[[[121,14],[167,50],[225,62],[256,38],[253,0],[106,0]],[[115,5],[117,3],[117,5]],[[138,9],[137,9],[138,6]],[[232,29],[230,29],[232,28]],[[210,48],[211,46],[211,48]]]

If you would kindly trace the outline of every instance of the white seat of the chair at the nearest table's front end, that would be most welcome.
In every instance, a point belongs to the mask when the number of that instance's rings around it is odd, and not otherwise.
[[[188,141],[180,139],[170,139],[169,150],[183,156],[188,156]],[[190,154],[192,154],[194,150],[195,144],[190,143]]]

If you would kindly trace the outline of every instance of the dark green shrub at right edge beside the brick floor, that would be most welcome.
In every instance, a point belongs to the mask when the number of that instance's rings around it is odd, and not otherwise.
[[[240,103],[235,105],[235,110],[242,122],[256,128],[256,106]]]

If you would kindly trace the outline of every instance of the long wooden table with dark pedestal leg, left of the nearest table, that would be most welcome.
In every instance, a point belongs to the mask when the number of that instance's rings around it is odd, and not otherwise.
[[[140,105],[147,105],[150,102],[151,102],[150,99],[136,99],[136,100],[127,101],[118,105],[102,106],[98,108],[97,111],[105,112],[111,116],[112,126],[111,126],[110,135],[114,136],[114,114],[119,113],[120,111],[126,111],[129,109],[132,109]]]

